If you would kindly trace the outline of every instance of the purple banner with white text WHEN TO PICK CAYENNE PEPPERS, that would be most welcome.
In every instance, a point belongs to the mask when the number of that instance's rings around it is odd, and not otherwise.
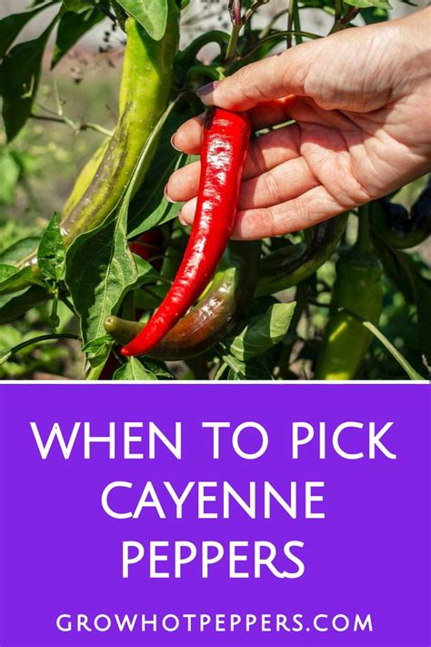
[[[0,645],[430,644],[426,384],[1,384]]]

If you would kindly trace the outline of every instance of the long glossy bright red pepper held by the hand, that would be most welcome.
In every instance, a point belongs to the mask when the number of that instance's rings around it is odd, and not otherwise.
[[[250,130],[246,113],[218,107],[208,110],[195,220],[185,256],[155,315],[121,349],[126,357],[153,349],[193,306],[216,271],[235,225]]]

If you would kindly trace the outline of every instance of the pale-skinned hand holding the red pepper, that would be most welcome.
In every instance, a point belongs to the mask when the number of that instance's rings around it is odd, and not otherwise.
[[[205,89],[205,105],[248,110],[255,130],[295,120],[253,139],[234,238],[311,227],[431,170],[431,7],[297,45]],[[172,143],[198,154],[201,136],[196,117]],[[184,224],[193,222],[199,173],[190,164],[165,188],[185,203]]]

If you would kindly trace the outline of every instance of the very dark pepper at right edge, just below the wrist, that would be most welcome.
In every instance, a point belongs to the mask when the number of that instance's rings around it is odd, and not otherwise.
[[[389,247],[407,249],[420,245],[431,234],[431,179],[410,214],[406,207],[386,197],[371,203],[371,223]]]

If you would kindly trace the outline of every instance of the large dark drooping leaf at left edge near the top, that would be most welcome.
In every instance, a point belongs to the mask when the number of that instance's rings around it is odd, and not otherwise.
[[[3,118],[7,140],[11,141],[30,116],[41,75],[45,45],[58,16],[35,40],[15,45],[0,69]]]

